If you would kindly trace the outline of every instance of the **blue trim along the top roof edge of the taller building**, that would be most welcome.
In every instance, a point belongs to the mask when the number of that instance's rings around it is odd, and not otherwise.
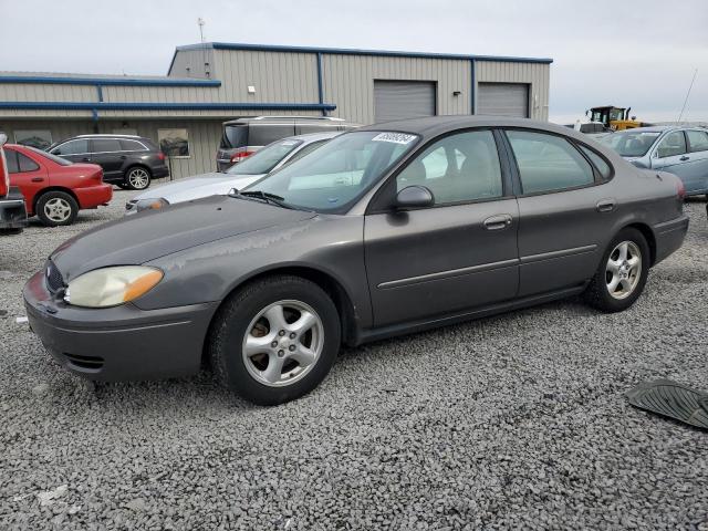
[[[293,53],[331,53],[339,55],[376,55],[387,58],[423,58],[423,59],[461,59],[476,61],[501,61],[509,63],[544,63],[553,62],[550,58],[511,58],[507,55],[473,55],[459,53],[428,53],[428,52],[404,52],[394,50],[357,50],[346,48],[317,48],[317,46],[288,46],[280,44],[244,44],[230,42],[208,42],[205,44],[187,44],[177,46],[179,50],[199,50],[211,48],[214,50],[244,50],[256,52],[293,52]]]

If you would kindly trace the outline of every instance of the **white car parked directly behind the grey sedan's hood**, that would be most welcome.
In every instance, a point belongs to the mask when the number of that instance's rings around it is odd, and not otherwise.
[[[197,175],[144,191],[125,204],[125,215],[137,214],[145,209],[156,210],[215,194],[226,195],[233,188],[243,188],[266,174],[298,160],[341,134],[341,132],[330,131],[275,140],[226,171]]]

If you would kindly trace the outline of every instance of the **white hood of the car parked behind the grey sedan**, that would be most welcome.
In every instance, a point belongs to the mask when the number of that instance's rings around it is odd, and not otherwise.
[[[226,195],[231,188],[241,189],[251,183],[263,177],[263,175],[238,175],[238,174],[204,174],[189,179],[179,179],[168,185],[150,188],[138,194],[133,199],[158,199],[164,198],[170,205],[175,202],[189,201],[200,197],[215,195]]]

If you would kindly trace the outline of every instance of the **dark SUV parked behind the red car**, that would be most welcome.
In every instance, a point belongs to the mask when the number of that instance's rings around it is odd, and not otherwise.
[[[103,168],[103,180],[121,188],[144,190],[152,179],[167,177],[165,154],[149,138],[133,135],[81,135],[49,148],[74,163],[93,163]]]

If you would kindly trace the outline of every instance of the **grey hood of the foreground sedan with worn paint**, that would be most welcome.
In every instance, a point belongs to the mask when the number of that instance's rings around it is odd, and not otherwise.
[[[260,200],[212,196],[111,221],[65,241],[50,258],[64,281],[70,281],[93,269],[145,263],[210,241],[314,216]]]

